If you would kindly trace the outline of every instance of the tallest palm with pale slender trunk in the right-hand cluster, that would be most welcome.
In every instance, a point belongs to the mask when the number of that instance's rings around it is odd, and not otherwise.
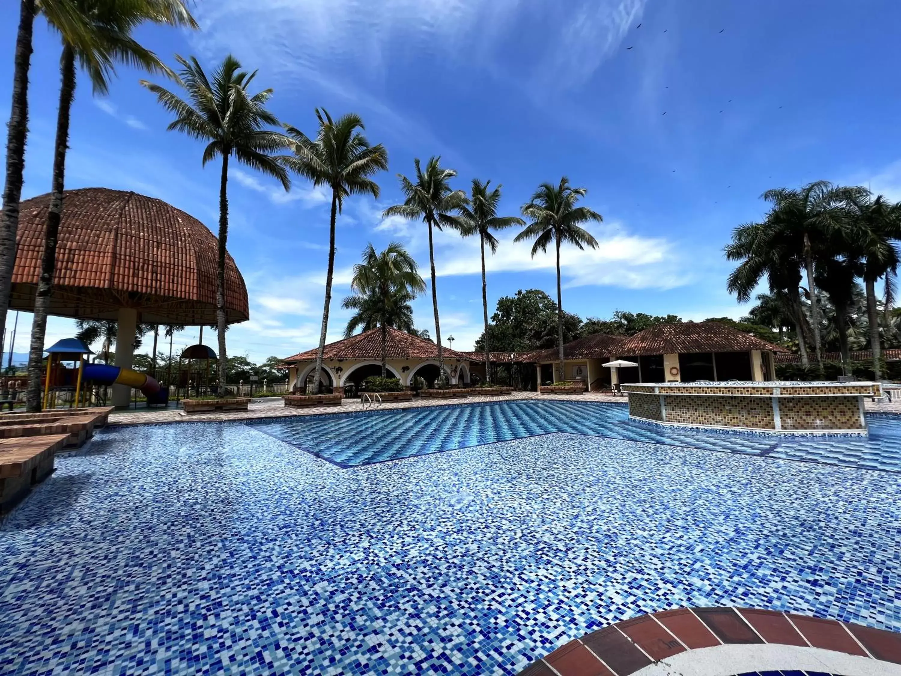
[[[823,250],[823,242],[833,238],[844,224],[843,206],[863,188],[834,186],[829,181],[814,181],[798,189],[778,187],[761,196],[772,208],[767,219],[790,233],[801,251],[810,296],[810,324],[814,333],[817,362],[822,364],[823,345],[820,337],[820,313],[815,286],[815,260],[831,258]]]

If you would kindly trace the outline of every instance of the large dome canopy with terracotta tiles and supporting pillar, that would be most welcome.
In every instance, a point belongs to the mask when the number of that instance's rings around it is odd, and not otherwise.
[[[34,309],[49,208],[50,194],[20,206],[11,309]],[[217,258],[209,228],[162,200],[105,187],[67,190],[50,315],[116,320],[115,363],[129,368],[138,322],[215,324]],[[250,318],[247,287],[227,254],[225,316],[228,324]],[[116,406],[122,397],[114,389]]]

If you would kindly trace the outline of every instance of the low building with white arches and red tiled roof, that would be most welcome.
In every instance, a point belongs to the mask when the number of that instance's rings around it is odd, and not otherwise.
[[[451,384],[469,383],[469,354],[442,347],[444,367]],[[387,329],[386,351],[388,375],[400,379],[405,387],[421,377],[430,385],[439,374],[438,345],[416,335]],[[288,367],[291,388],[304,388],[312,383],[316,366],[316,348],[299,352],[283,360]],[[323,372],[330,385],[357,387],[369,376],[381,375],[382,336],[371,329],[325,345]]]

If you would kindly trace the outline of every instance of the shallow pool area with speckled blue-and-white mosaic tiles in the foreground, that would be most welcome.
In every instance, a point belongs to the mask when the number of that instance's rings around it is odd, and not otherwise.
[[[212,423],[57,466],[0,526],[3,673],[513,674],[678,606],[901,631],[888,471],[571,433],[345,469]]]

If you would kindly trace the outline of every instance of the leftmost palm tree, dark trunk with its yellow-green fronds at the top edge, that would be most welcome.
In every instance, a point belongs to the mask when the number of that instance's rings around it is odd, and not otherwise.
[[[28,71],[32,62],[34,17],[40,11],[48,23],[70,44],[90,43],[86,16],[70,0],[21,0],[19,29],[15,38],[13,102],[10,105],[6,136],[6,173],[3,213],[0,215],[0,307],[9,306],[9,290],[15,264],[15,237],[19,229],[19,202],[22,199],[25,142],[28,136]],[[0,312],[0,335],[4,334],[6,313]]]

